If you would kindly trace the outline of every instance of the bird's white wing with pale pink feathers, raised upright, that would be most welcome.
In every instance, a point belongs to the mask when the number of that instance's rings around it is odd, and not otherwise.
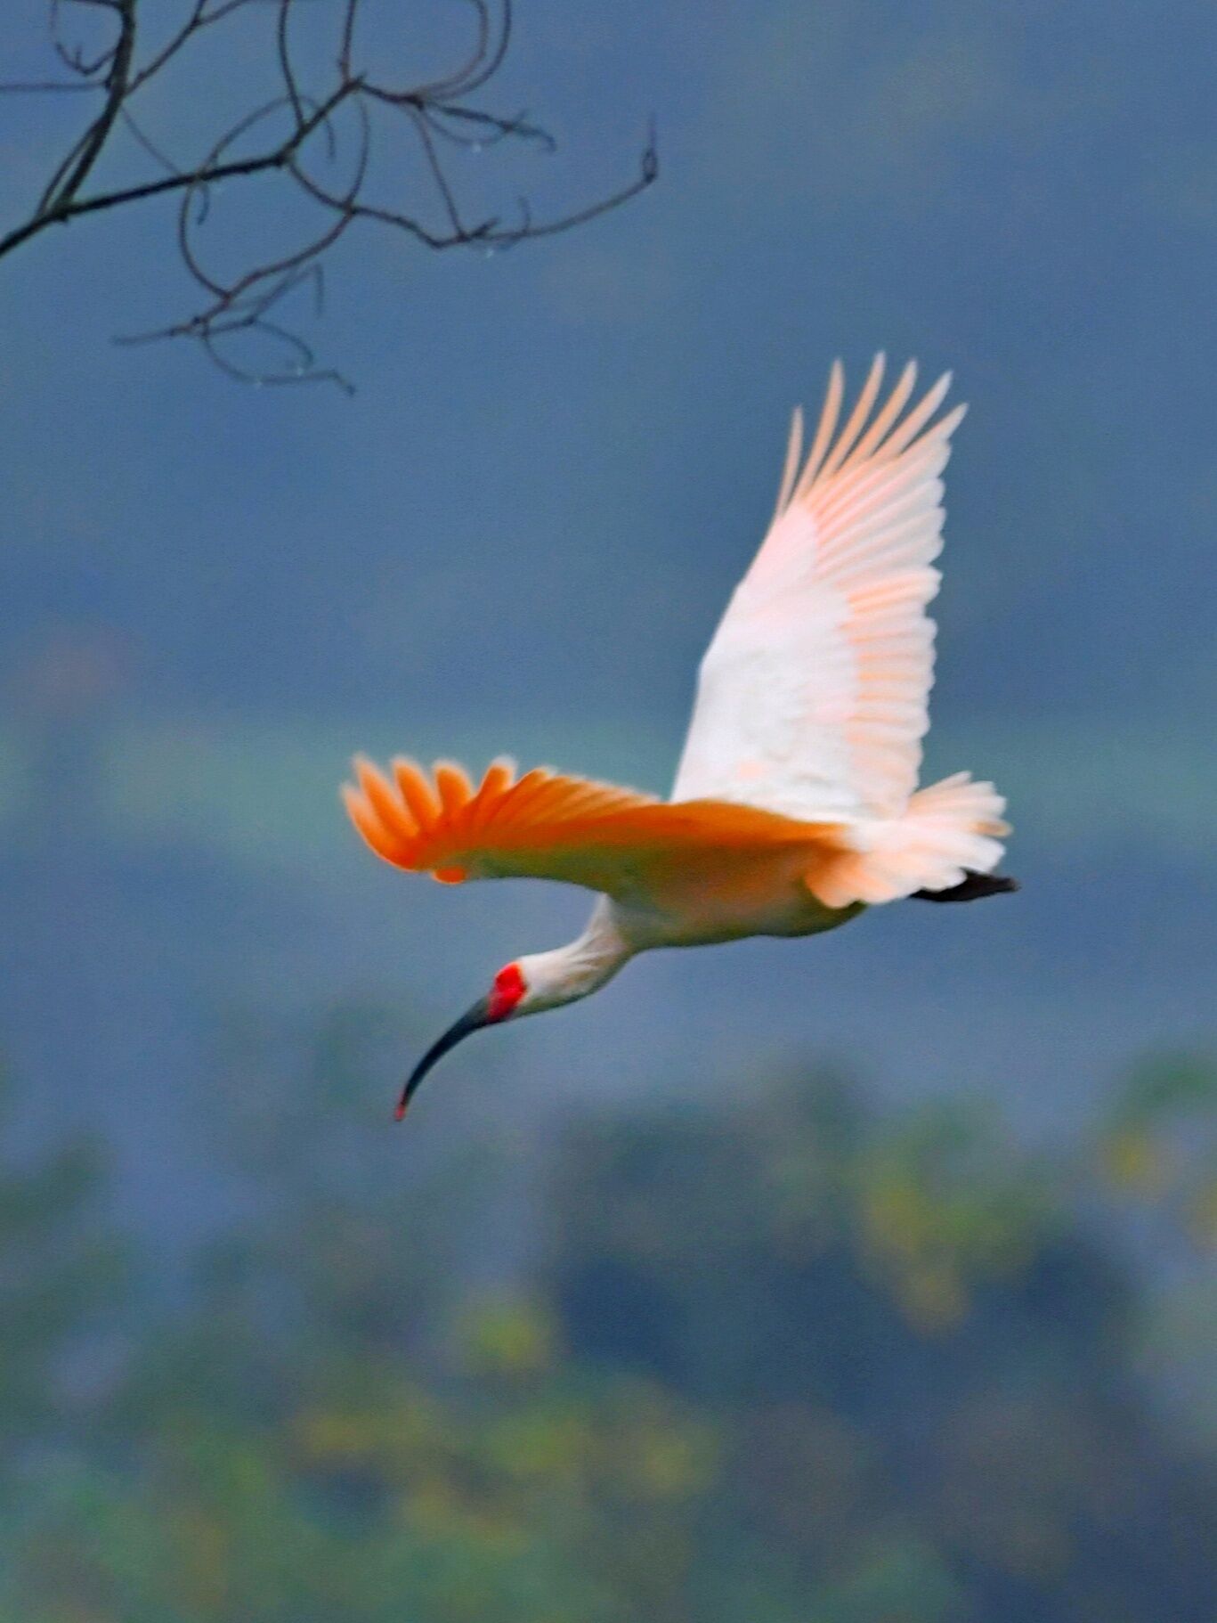
[[[927,427],[948,375],[905,412],[909,364],[875,411],[883,370],[879,355],[837,432],[844,375],[834,364],[802,471],[795,412],[769,534],[701,662],[673,800],[860,823],[899,818],[917,787],[940,476],[964,407]]]

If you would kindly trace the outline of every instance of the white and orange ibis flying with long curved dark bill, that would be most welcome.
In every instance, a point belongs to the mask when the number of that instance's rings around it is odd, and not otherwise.
[[[956,773],[917,787],[933,680],[949,373],[881,406],[883,355],[842,417],[832,365],[811,448],[795,411],[769,531],[701,661],[672,797],[493,761],[479,784],[436,761],[355,760],[344,786],[372,850],[445,885],[527,876],[597,893],[583,935],[513,959],[427,1050],[398,1104],[482,1026],[599,990],[634,954],[750,935],[818,935],[915,896],[1016,889],[995,873],[1004,800]]]

